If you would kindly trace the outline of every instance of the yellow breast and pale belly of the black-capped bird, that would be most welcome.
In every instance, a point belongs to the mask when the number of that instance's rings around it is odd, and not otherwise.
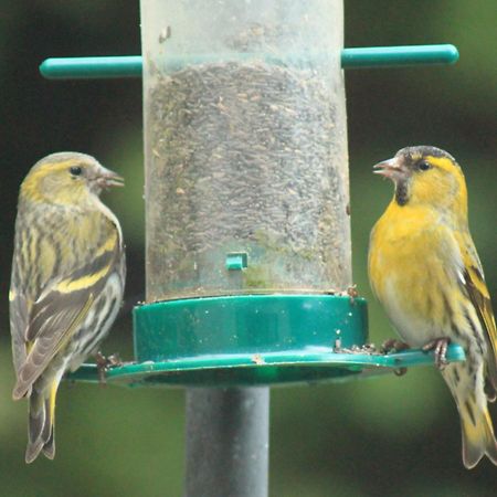
[[[447,299],[459,265],[451,229],[433,210],[392,202],[371,233],[372,289],[410,342],[422,342],[448,326]]]

